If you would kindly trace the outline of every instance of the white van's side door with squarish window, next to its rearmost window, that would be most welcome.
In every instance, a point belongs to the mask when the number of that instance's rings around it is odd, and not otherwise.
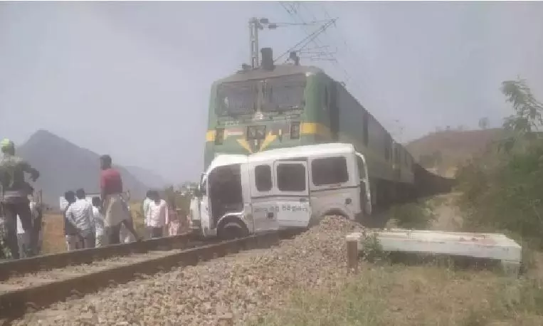
[[[306,228],[311,219],[307,160],[280,160],[273,164],[280,228]]]

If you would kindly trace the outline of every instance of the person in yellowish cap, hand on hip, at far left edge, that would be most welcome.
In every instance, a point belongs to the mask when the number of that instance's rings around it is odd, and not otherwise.
[[[2,140],[0,147],[2,152],[0,159],[0,204],[7,226],[6,240],[11,256],[15,259],[19,258],[19,245],[16,234],[16,221],[17,215],[19,215],[23,229],[29,238],[26,255],[32,256],[36,251],[38,239],[36,238],[36,232],[33,231],[28,188],[24,174],[25,172],[30,174],[31,180],[36,182],[40,177],[40,173],[21,157],[15,155],[15,144],[11,140]]]

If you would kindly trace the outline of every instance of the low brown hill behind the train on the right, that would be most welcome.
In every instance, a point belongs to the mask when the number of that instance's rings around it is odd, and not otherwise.
[[[406,144],[417,162],[441,175],[453,177],[455,167],[483,152],[502,130],[446,130],[433,132]]]

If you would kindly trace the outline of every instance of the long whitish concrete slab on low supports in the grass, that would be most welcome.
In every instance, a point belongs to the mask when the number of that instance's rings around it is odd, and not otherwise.
[[[357,270],[358,253],[364,251],[364,238],[374,235],[381,250],[393,257],[445,256],[456,261],[476,262],[479,266],[499,263],[507,275],[517,276],[522,262],[522,247],[500,233],[467,233],[427,230],[367,230],[347,235],[349,268]],[[354,252],[357,253],[354,253]]]

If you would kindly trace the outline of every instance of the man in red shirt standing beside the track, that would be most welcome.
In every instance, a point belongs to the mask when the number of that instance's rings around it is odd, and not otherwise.
[[[109,155],[100,157],[100,194],[102,195],[104,211],[104,228],[107,244],[120,243],[121,224],[125,224],[128,231],[139,240],[132,224],[127,219],[130,216],[125,201],[122,200],[122,180],[117,169],[112,168]]]

